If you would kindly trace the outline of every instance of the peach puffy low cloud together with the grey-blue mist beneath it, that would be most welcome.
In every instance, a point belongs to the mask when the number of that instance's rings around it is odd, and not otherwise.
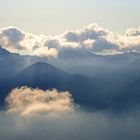
[[[6,101],[6,110],[0,112],[2,140],[137,140],[140,137],[139,110],[123,114],[75,110],[69,92],[29,87],[12,90]]]

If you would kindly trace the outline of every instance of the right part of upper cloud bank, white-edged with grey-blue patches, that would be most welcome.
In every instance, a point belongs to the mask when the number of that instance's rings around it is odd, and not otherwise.
[[[131,34],[131,35],[130,35]],[[125,35],[113,33],[97,24],[91,24],[77,31],[67,31],[61,40],[79,44],[78,47],[98,54],[118,54],[128,51],[139,52],[140,30],[128,29]],[[77,47],[77,48],[78,48]]]

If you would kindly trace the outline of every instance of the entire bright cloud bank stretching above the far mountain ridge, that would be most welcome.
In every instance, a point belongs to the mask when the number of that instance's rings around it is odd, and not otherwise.
[[[93,23],[81,30],[57,36],[36,36],[16,27],[0,30],[0,45],[22,55],[57,57],[62,49],[82,48],[97,54],[140,52],[140,28],[127,29],[124,35],[113,33]]]

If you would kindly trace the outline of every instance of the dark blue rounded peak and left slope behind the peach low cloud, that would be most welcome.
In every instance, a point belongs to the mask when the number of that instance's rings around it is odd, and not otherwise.
[[[0,84],[0,105],[4,105],[5,97],[16,87],[26,85],[44,90],[48,88],[62,90],[64,81],[69,76],[68,73],[44,62],[32,64]]]

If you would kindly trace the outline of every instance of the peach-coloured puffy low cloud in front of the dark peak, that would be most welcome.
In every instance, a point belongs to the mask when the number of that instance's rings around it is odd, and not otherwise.
[[[12,90],[6,98],[7,112],[22,116],[72,112],[75,105],[69,92],[21,87]]]

